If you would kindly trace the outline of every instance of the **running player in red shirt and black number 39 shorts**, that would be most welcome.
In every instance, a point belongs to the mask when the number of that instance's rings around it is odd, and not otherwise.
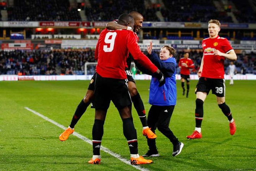
[[[235,134],[236,126],[230,108],[225,103],[224,60],[237,60],[237,55],[226,38],[219,37],[220,22],[211,19],[208,22],[209,38],[202,41],[203,58],[198,71],[199,81],[196,85],[196,128],[188,139],[201,138],[203,120],[203,104],[206,96],[212,90],[216,95],[217,104],[229,121],[230,134]]]

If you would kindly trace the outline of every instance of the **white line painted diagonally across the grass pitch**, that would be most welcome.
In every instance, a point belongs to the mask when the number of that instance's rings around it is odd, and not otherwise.
[[[54,125],[56,125],[56,126],[58,126],[58,127],[62,128],[62,129],[64,129],[64,130],[66,129],[65,126],[60,125],[59,123],[55,122],[54,120],[51,120],[50,118],[47,118],[47,117],[45,117],[44,115],[42,115],[42,114],[40,114],[40,113],[38,113],[38,112],[36,112],[36,111],[34,111],[34,110],[32,110],[32,109],[29,109],[28,107],[24,107],[24,108],[27,109],[27,110],[29,110],[30,112],[36,114],[37,116],[43,118],[44,120],[47,120],[47,121],[49,121],[50,123],[53,123]],[[82,136],[81,134],[78,134],[78,133],[76,133],[76,132],[74,132],[73,135],[92,145],[92,141],[91,141],[90,139],[88,139],[87,137]],[[106,152],[106,153],[109,153],[110,155],[112,155],[113,157],[117,158],[118,160],[121,160],[121,161],[123,161],[125,164],[130,165],[130,166],[133,166],[134,168],[136,168],[136,169],[138,169],[138,170],[140,170],[140,171],[150,171],[149,169],[141,168],[140,166],[131,165],[130,160],[126,160],[125,158],[121,157],[119,154],[112,152],[111,150],[109,150],[109,149],[106,148],[106,147],[103,147],[102,145],[100,146],[100,150],[102,150],[102,151],[104,151],[104,152]]]

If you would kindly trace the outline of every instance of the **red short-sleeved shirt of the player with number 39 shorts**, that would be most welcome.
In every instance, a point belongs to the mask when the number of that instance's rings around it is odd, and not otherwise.
[[[223,56],[214,55],[213,51],[219,50],[222,53],[229,53],[233,50],[227,38],[205,38],[202,41],[203,47],[203,70],[201,77],[206,78],[224,78],[224,60]]]

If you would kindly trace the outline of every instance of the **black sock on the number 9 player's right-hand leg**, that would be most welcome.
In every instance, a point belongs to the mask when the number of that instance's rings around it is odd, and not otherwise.
[[[138,154],[137,133],[136,133],[136,129],[134,128],[132,118],[123,119],[123,134],[127,139],[130,153]]]

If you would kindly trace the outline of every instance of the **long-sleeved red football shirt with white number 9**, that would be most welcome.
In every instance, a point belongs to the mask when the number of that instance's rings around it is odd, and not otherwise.
[[[97,73],[102,77],[126,79],[125,66],[128,52],[151,72],[157,67],[140,51],[134,33],[129,30],[107,30],[100,33],[95,58]]]

